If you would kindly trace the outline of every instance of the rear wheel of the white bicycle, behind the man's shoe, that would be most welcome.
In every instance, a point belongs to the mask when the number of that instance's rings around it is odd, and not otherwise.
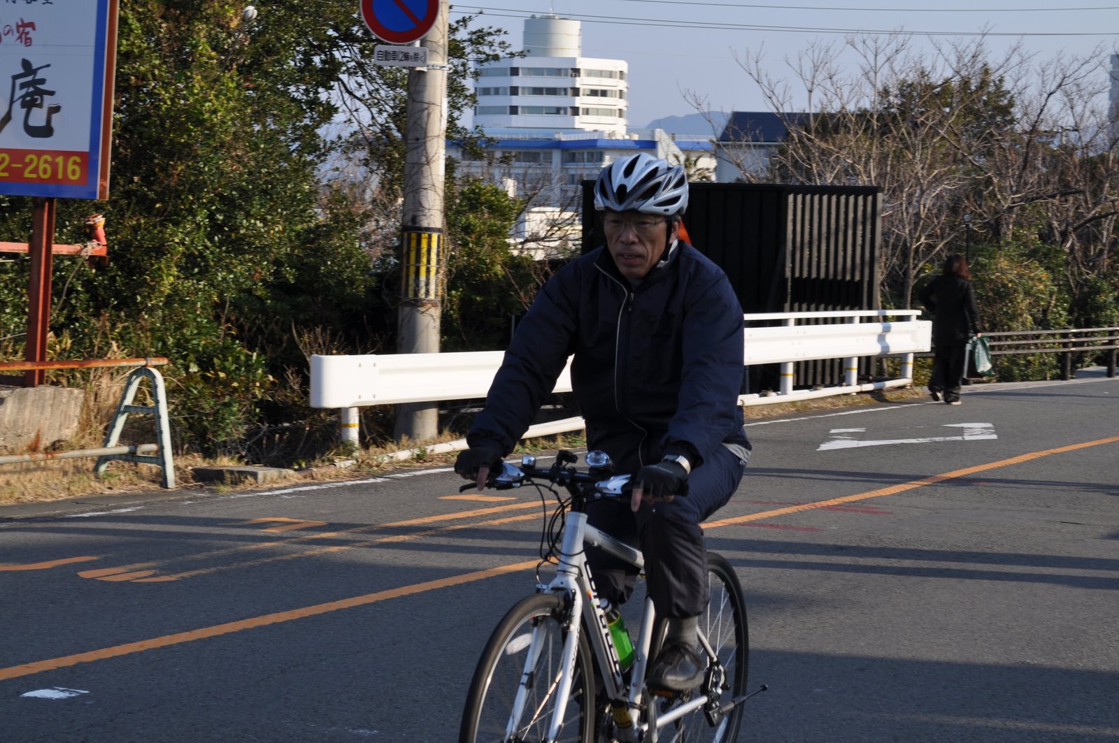
[[[723,665],[725,678],[720,704],[726,705],[746,693],[750,661],[750,633],[746,622],[746,601],[742,584],[731,563],[718,554],[707,554],[707,585],[711,596],[707,608],[699,615],[699,629],[707,637],[712,649]],[[652,698],[661,708],[652,711],[650,721],[687,702],[694,693],[676,695],[669,699]],[[658,743],[734,743],[742,725],[743,706],[740,704],[712,726],[703,709],[696,709],[656,734]]]

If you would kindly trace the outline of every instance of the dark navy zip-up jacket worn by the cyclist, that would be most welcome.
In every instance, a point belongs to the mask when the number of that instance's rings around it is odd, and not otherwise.
[[[737,397],[742,308],[726,274],[684,243],[637,289],[600,247],[548,281],[517,326],[467,441],[507,454],[567,357],[587,446],[636,472],[664,454],[693,468],[723,442],[749,449]]]

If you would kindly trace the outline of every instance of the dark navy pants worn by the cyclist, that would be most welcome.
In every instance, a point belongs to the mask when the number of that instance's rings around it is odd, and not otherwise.
[[[587,523],[638,546],[658,617],[698,617],[707,606],[707,551],[699,523],[726,505],[742,481],[745,462],[716,446],[688,477],[688,495],[671,501],[642,504],[637,514],[624,502],[587,505]],[[599,595],[614,605],[626,603],[637,583],[637,570],[595,547],[586,548]]]

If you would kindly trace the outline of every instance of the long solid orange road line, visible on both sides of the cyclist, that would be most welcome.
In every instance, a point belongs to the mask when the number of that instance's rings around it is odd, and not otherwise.
[[[882,496],[892,496],[899,492],[904,492],[906,490],[912,490],[914,488],[920,488],[927,485],[935,485],[938,482],[943,482],[944,480],[951,480],[955,478],[966,477],[968,474],[975,474],[976,472],[984,472],[987,470],[994,470],[1003,467],[1010,467],[1013,464],[1021,464],[1023,462],[1028,462],[1034,459],[1041,459],[1042,457],[1049,457],[1051,454],[1061,454],[1064,452],[1076,451],[1079,449],[1088,449],[1089,446],[1098,446],[1100,444],[1115,443],[1117,441],[1119,441],[1119,436],[1109,436],[1107,439],[1097,439],[1094,441],[1085,441],[1079,444],[1070,444],[1068,446],[1057,446],[1055,449],[1046,449],[1044,451],[1029,452],[1027,454],[1021,454],[1018,457],[1012,457],[1009,459],[998,460],[997,462],[988,462],[986,464],[966,467],[963,469],[952,470],[951,472],[944,472],[943,474],[934,474],[931,477],[921,478],[919,480],[911,480],[910,482],[903,482],[901,485],[890,486],[887,488],[878,488],[877,490],[869,490],[867,492],[857,493],[854,496],[833,498],[830,500],[821,500],[815,504],[803,504],[801,506],[790,506],[788,508],[778,508],[770,511],[763,511],[760,514],[750,514],[747,516],[740,516],[735,518],[720,519],[717,521],[711,521],[706,524],[706,526],[708,528],[731,526],[733,524],[743,524],[746,521],[754,521],[763,518],[772,518],[774,516],[794,514],[798,511],[809,510],[812,508],[826,508],[827,506],[835,506],[837,504],[853,502],[856,500],[866,500],[867,498],[878,498]],[[532,505],[538,506],[538,504],[532,504]],[[528,516],[525,516],[524,518],[528,518]],[[398,599],[402,596],[413,595],[416,593],[423,593],[424,591],[435,591],[439,589],[445,589],[454,585],[462,585],[464,583],[470,583],[473,581],[481,581],[488,577],[495,577],[508,573],[516,573],[517,571],[521,570],[529,570],[532,567],[535,567],[537,564],[538,561],[533,559],[524,563],[514,563],[511,565],[499,565],[497,567],[490,567],[483,571],[463,573],[461,575],[453,575],[451,577],[439,579],[435,581],[426,581],[424,583],[414,583],[412,585],[405,585],[398,589],[388,589],[387,591],[367,593],[361,596],[354,596],[350,599],[342,599],[339,601],[330,601],[327,603],[314,604],[313,606],[304,606],[302,609],[292,609],[289,611],[281,611],[272,614],[263,614],[261,617],[252,617],[248,619],[243,619],[234,622],[226,622],[224,624],[204,627],[201,629],[190,630],[187,632],[164,634],[163,637],[152,638],[149,640],[140,640],[138,642],[126,642],[124,645],[102,648],[100,650],[91,650],[88,652],[78,652],[72,656],[63,656],[60,658],[51,658],[48,660],[38,660],[35,662],[23,664],[20,666],[11,666],[9,668],[0,668],[0,680],[6,680],[9,678],[18,678],[20,676],[30,676],[32,674],[41,674],[43,671],[54,670],[56,668],[65,668],[67,666],[76,666],[77,664],[83,664],[83,662],[92,662],[94,660],[105,660],[107,658],[116,658],[133,652],[141,652],[143,650],[153,650],[156,648],[166,648],[172,645],[192,642],[195,640],[203,640],[206,638],[228,634],[231,632],[239,632],[242,630],[266,627],[269,624],[276,624],[279,622],[288,622],[295,619],[305,619],[308,617],[325,614],[327,612],[338,611],[341,609],[352,609],[354,606],[363,606],[366,604],[376,603],[378,601],[386,601],[388,599]]]

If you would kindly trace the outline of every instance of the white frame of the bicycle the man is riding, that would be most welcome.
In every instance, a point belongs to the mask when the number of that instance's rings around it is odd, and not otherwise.
[[[628,479],[628,478],[626,478]],[[563,727],[564,713],[567,708],[567,702],[571,696],[571,681],[572,676],[575,671],[576,656],[579,652],[579,633],[582,629],[580,618],[582,618],[587,627],[596,628],[598,631],[590,633],[591,647],[594,649],[594,655],[599,660],[599,668],[602,669],[602,680],[605,683],[605,690],[611,700],[611,703],[621,698],[622,693],[626,692],[626,679],[622,675],[622,668],[618,660],[618,649],[614,647],[613,638],[610,634],[610,628],[606,624],[606,615],[602,606],[599,604],[599,594],[594,587],[594,580],[591,577],[590,570],[586,565],[586,554],[584,552],[585,545],[592,545],[599,547],[604,553],[618,557],[637,568],[642,568],[645,566],[645,557],[641,555],[640,551],[624,544],[623,542],[610,536],[605,532],[602,532],[586,523],[586,514],[580,512],[568,512],[566,521],[564,524],[564,538],[563,546],[560,552],[560,563],[556,570],[556,575],[547,585],[539,585],[537,590],[544,593],[555,593],[562,598],[570,601],[571,611],[567,614],[567,639],[564,642],[563,648],[563,659],[561,664],[561,674],[558,678],[551,679],[551,684],[557,684],[556,696],[555,696],[555,709],[553,711],[552,722],[548,725],[548,743],[553,743],[560,736],[561,728]],[[587,600],[589,599],[589,600]],[[652,600],[646,596],[645,600],[645,611],[641,614],[641,626],[638,631],[637,642],[633,645],[634,653],[637,658],[633,661],[632,675],[630,677],[629,689],[626,693],[626,699],[628,703],[628,715],[630,718],[630,725],[628,727],[618,727],[615,730],[615,735],[622,741],[637,741],[639,732],[640,722],[640,711],[642,704],[642,686],[645,685],[645,671],[646,665],[649,660],[649,648],[652,645],[652,631],[653,631],[653,620],[656,619],[656,611],[652,606]],[[703,646],[708,658],[714,658],[715,652],[712,650],[711,645],[707,642],[707,638],[700,631],[699,642]],[[510,736],[518,728],[518,722],[523,713],[525,712],[525,705],[528,699],[528,689],[526,684],[532,675],[533,669],[536,667],[536,662],[539,660],[539,655],[543,649],[543,643],[539,642],[538,630],[534,630],[532,633],[532,642],[529,651],[525,659],[525,670],[521,674],[521,683],[517,690],[517,697],[513,705],[513,712],[509,716],[509,723],[506,728],[506,736]],[[606,670],[609,669],[609,673]],[[539,681],[539,679],[537,679]],[[657,716],[656,727],[661,727],[667,725],[679,717],[704,706],[707,703],[706,695],[699,695],[697,698],[674,708],[664,716]],[[589,704],[593,705],[593,699],[589,700]],[[535,712],[535,711],[534,711]],[[593,715],[593,707],[591,709]],[[615,721],[618,718],[615,717]],[[653,739],[656,740],[656,735]]]

